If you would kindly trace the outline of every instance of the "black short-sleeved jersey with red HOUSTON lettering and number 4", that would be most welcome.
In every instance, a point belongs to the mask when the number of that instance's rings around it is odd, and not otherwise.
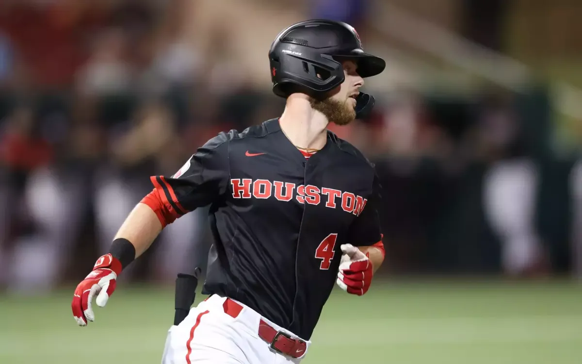
[[[210,204],[203,294],[236,299],[305,340],[335,284],[340,245],[381,240],[374,168],[329,131],[308,159],[278,119],[220,133],[152,182],[174,215]]]

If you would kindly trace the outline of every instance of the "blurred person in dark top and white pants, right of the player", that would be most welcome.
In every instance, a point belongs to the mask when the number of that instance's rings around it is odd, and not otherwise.
[[[524,153],[521,129],[507,101],[489,99],[478,125],[490,162],[484,178],[484,211],[502,242],[502,267],[510,275],[537,273],[544,260],[534,218],[538,166]]]

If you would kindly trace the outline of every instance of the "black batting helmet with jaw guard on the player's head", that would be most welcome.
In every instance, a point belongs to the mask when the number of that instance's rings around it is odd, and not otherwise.
[[[279,33],[269,50],[273,92],[281,97],[295,92],[325,97],[345,79],[338,62],[342,57],[356,59],[361,77],[378,75],[386,67],[384,59],[363,51],[360,36],[349,24],[325,19],[293,24]],[[374,97],[361,92],[356,101],[356,118],[374,106]]]

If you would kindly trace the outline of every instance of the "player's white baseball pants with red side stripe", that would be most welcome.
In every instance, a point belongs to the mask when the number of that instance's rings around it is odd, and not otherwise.
[[[226,298],[212,295],[200,302],[178,326],[168,330],[162,364],[298,364],[305,358],[311,341],[299,358],[276,352],[259,334],[260,321],[297,338],[255,310],[235,301],[242,310],[232,317],[225,313]]]

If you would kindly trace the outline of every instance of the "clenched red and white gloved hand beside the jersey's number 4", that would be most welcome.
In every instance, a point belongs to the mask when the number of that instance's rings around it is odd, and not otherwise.
[[[361,296],[372,283],[372,262],[352,244],[343,244],[340,248],[343,255],[336,284],[349,294]]]

